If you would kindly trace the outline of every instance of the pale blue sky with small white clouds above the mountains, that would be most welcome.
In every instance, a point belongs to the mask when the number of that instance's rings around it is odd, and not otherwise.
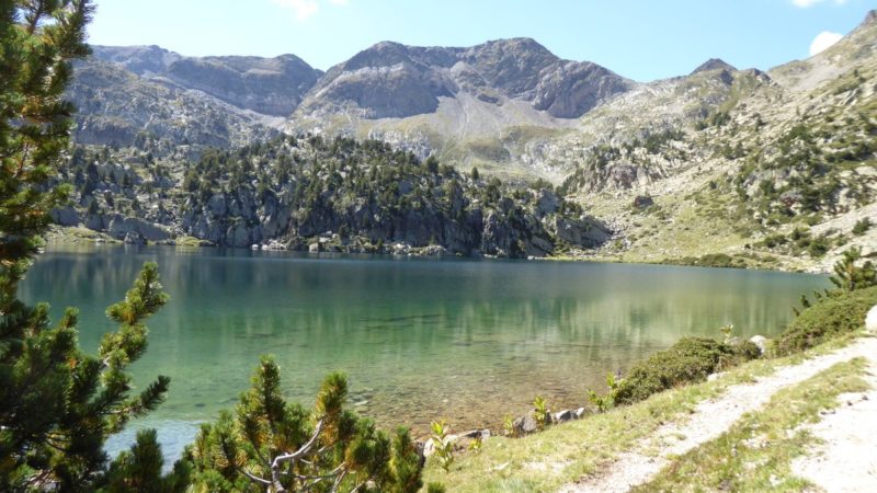
[[[292,53],[326,70],[395,41],[532,37],[555,55],[650,81],[709,58],[763,70],[824,49],[877,0],[95,0],[89,42],[187,56]]]

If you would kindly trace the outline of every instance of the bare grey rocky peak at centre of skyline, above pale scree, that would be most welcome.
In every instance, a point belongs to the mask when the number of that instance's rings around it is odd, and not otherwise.
[[[471,47],[417,47],[381,42],[326,73],[299,108],[319,117],[353,111],[403,118],[437,110],[463,93],[485,104],[523,100],[553,117],[577,118],[631,82],[591,62],[562,60],[528,37]]]

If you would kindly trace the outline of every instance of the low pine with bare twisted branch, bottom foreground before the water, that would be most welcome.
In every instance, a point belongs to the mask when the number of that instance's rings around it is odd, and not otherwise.
[[[196,491],[414,493],[422,460],[408,431],[390,437],[343,409],[346,378],[326,377],[314,410],[287,403],[264,356],[235,414],[205,424],[187,451]]]

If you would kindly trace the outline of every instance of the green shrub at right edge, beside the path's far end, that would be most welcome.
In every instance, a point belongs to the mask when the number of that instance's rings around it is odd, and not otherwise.
[[[862,329],[865,314],[877,305],[877,287],[833,291],[807,308],[776,341],[776,353],[787,355]]]

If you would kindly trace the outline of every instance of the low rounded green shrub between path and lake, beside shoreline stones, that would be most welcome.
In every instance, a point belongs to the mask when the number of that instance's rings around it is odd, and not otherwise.
[[[684,337],[630,369],[615,392],[616,404],[630,404],[682,383],[705,380],[709,374],[759,357],[747,341],[726,344],[711,339]]]

